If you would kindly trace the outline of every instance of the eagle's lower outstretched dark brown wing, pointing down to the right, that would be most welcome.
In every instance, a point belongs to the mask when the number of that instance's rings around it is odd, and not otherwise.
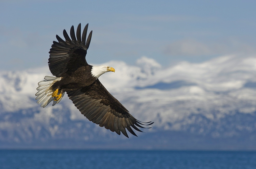
[[[145,128],[141,125],[151,125],[152,122],[141,122],[135,119],[129,111],[115,99],[97,79],[88,87],[67,91],[69,99],[73,101],[79,111],[93,123],[99,124],[120,135],[120,131],[128,137],[125,128],[133,135],[137,136],[132,130],[141,131],[136,126]],[[142,132],[142,131],[141,131]]]

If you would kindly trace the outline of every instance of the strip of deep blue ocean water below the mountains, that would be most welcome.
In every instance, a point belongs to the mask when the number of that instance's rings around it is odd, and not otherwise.
[[[0,168],[256,168],[256,152],[0,150]]]

